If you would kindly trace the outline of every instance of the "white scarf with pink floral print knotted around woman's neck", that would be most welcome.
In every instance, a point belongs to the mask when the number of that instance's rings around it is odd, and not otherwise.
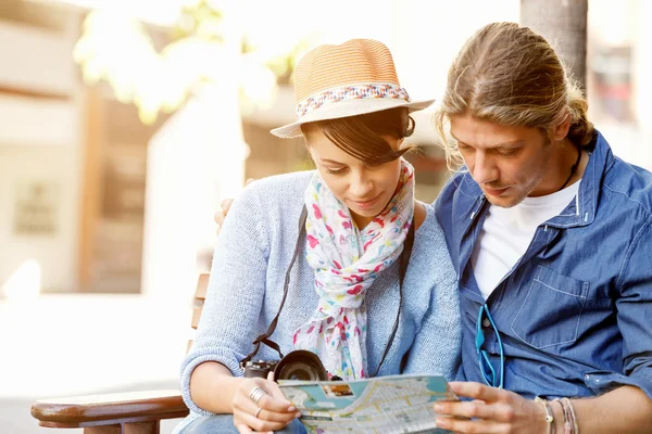
[[[401,158],[393,196],[362,230],[318,173],[305,191],[305,207],[306,257],[315,271],[319,302],[312,318],[294,332],[294,348],[315,353],[330,375],[363,379],[367,375],[364,296],[403,250],[414,213],[414,168]]]

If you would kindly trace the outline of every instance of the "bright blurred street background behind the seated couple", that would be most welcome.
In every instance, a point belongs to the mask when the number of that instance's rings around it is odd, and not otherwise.
[[[463,41],[521,3],[0,0],[0,432],[48,432],[39,397],[177,387],[221,200],[311,168],[268,133],[294,117],[303,51],[378,39],[411,97],[437,98]],[[590,0],[585,81],[590,118],[648,169],[650,20],[645,0]],[[448,178],[430,115],[409,157],[426,202]]]

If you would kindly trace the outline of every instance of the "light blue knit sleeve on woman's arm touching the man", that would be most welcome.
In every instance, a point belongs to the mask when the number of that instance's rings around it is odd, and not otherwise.
[[[449,258],[439,267],[442,278],[430,291],[430,306],[410,348],[404,373],[442,374],[452,381],[462,345],[457,280]]]

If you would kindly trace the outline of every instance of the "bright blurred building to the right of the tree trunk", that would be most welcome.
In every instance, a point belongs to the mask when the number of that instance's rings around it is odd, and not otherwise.
[[[614,152],[652,168],[652,3],[589,2],[587,88],[592,120]]]

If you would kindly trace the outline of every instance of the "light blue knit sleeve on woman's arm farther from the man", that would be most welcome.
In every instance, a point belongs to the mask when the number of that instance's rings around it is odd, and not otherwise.
[[[196,413],[211,412],[199,408],[190,396],[190,376],[205,361],[224,365],[241,376],[239,361],[252,349],[254,328],[265,294],[269,256],[268,234],[263,225],[256,182],[234,201],[220,232],[213,255],[203,312],[192,347],[180,372],[184,401]]]

